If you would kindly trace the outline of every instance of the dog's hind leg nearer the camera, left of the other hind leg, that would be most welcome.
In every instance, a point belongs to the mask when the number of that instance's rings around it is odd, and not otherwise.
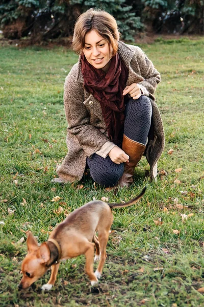
[[[98,279],[93,272],[93,256],[94,256],[93,243],[87,242],[85,256],[86,256],[86,273],[90,278],[91,286],[94,286],[94,284],[98,282]]]

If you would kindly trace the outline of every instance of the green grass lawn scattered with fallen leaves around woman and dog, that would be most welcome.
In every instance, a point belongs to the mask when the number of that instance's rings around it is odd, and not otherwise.
[[[89,177],[82,188],[51,183],[67,151],[63,83],[77,55],[59,47],[0,50],[1,306],[203,306],[197,290],[204,287],[204,39],[158,39],[140,47],[162,75],[156,96],[166,146],[158,167],[167,175],[149,182],[143,158],[134,185],[116,193],[94,186]],[[178,168],[181,172],[175,172]],[[61,264],[50,292],[40,290],[50,272],[33,289],[18,292],[26,244],[17,242],[25,231],[43,242],[66,213],[93,198],[129,200],[144,185],[148,189],[140,203],[113,212],[97,287],[90,287],[81,256]],[[61,199],[52,202],[57,195]],[[193,215],[183,222],[181,213]],[[162,225],[154,222],[159,218]]]

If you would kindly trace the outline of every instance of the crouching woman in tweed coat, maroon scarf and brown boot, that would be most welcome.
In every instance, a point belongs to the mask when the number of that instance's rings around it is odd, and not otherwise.
[[[160,74],[142,50],[119,41],[116,20],[90,9],[74,27],[79,61],[64,85],[68,153],[56,182],[129,186],[142,155],[157,175],[164,131],[154,93]]]

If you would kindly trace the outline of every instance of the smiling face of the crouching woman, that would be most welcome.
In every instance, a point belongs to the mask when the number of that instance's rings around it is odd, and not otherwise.
[[[91,30],[85,36],[85,47],[83,49],[87,61],[93,67],[108,71],[110,65],[109,42],[100,36],[95,30]]]

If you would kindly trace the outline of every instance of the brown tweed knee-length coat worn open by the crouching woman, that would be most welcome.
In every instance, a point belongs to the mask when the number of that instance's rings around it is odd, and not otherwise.
[[[143,95],[148,96],[152,104],[151,127],[144,155],[150,165],[150,176],[153,179],[157,176],[157,162],[164,149],[164,129],[154,97],[160,74],[139,47],[119,41],[118,54],[129,69],[126,86],[138,83]],[[87,157],[97,152],[106,158],[115,146],[108,139],[100,103],[84,89],[83,82],[79,57],[78,63],[73,65],[64,84],[68,153],[62,165],[57,168],[57,173],[65,182],[81,180]]]

